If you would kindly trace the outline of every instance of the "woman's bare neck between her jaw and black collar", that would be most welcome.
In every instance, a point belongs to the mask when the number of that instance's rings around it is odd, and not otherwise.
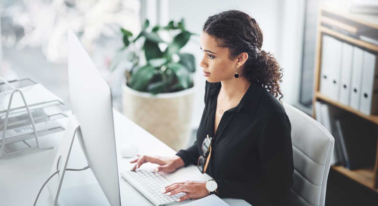
[[[238,101],[251,85],[251,82],[243,77],[221,81],[220,83],[222,87],[220,88],[218,98],[225,103]]]

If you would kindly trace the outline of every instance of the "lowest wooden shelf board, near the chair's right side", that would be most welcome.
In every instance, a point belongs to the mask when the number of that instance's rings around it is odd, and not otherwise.
[[[378,192],[373,184],[374,168],[368,167],[358,170],[349,170],[343,166],[332,166],[332,169],[342,173],[343,175],[357,181],[360,184],[363,184],[366,187]]]

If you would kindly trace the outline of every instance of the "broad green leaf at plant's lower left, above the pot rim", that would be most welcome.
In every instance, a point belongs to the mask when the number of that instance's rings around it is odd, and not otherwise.
[[[145,91],[154,75],[154,70],[155,67],[146,65],[144,67],[140,67],[135,73],[133,72],[130,81],[131,88],[137,91]]]

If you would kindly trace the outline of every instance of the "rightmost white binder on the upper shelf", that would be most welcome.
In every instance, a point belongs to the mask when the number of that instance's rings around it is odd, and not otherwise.
[[[361,103],[359,110],[366,114],[378,112],[378,64],[375,54],[364,51]]]

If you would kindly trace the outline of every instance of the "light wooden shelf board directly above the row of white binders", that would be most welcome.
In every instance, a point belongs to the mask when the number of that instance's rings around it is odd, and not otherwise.
[[[351,36],[347,36],[345,34],[339,33],[337,31],[334,31],[334,30],[327,28],[327,27],[320,26],[319,30],[320,30],[321,33],[329,34],[330,36],[334,36],[336,38],[339,38],[339,39],[341,39],[341,40],[343,40],[347,43],[354,44],[354,45],[357,45],[359,47],[363,47],[363,48],[378,52],[378,45],[375,45],[375,44],[372,44],[372,43],[369,43],[369,42],[366,42],[366,41],[362,41],[362,40],[359,40],[359,39],[355,39]]]

